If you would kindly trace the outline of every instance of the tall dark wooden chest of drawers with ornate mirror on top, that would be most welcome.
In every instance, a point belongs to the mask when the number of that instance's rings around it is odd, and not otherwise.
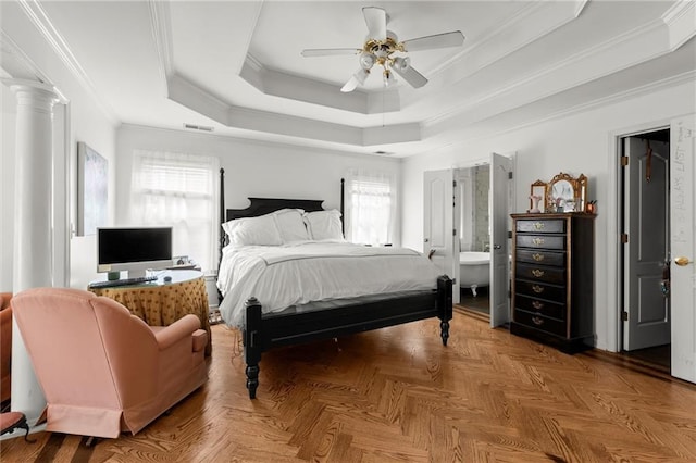
[[[594,214],[512,214],[510,331],[572,353],[594,345]]]

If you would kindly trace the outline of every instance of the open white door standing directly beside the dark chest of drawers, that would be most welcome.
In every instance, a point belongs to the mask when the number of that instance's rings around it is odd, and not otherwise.
[[[510,249],[508,230],[510,214],[508,195],[512,160],[500,154],[490,154],[490,189],[488,198],[488,223],[490,226],[490,327],[510,322]]]

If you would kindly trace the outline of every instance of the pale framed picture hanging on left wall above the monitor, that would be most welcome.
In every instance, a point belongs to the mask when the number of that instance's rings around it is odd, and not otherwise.
[[[109,163],[77,142],[77,236],[95,235],[109,220]]]

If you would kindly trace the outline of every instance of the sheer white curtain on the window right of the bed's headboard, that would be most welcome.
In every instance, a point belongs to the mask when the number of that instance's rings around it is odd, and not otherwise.
[[[346,239],[393,243],[397,207],[394,174],[350,170],[346,176]]]

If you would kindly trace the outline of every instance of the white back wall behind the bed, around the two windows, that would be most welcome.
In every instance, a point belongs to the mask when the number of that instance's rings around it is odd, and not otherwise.
[[[400,161],[384,157],[298,148],[195,132],[124,125],[116,141],[116,218],[127,224],[133,152],[136,149],[187,152],[220,159],[225,170],[225,205],[246,208],[248,197],[323,199],[340,205],[340,178],[351,167],[400,174]],[[400,217],[397,217],[397,224]],[[398,241],[399,237],[397,236]]]

